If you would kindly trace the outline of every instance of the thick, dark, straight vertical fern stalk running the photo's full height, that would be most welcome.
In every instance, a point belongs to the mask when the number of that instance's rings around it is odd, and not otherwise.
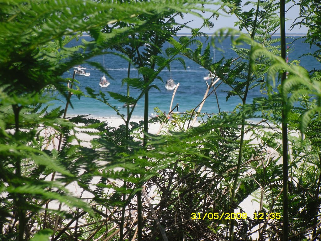
[[[285,44],[285,0],[280,1],[281,20],[281,57],[286,59]],[[286,73],[282,74],[281,85],[286,79]],[[288,124],[286,110],[286,96],[282,93],[282,162],[283,162],[283,240],[289,240],[289,190],[288,190]]]

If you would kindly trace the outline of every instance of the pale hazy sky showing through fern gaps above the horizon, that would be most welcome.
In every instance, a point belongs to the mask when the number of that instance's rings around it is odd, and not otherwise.
[[[243,1],[245,2],[245,1]],[[288,9],[293,3],[289,3],[286,6],[286,9]],[[217,9],[216,5],[212,5],[212,6],[208,6],[209,8],[213,8],[213,9]],[[249,10],[252,7],[246,6],[244,9],[245,10]],[[202,13],[204,17],[209,17],[211,16],[212,13]],[[279,14],[279,13],[278,13]],[[226,14],[225,14],[226,15]],[[285,23],[285,27],[286,27],[286,33],[307,33],[308,28],[305,26],[302,26],[301,28],[299,28],[299,26],[295,26],[294,29],[292,29],[291,31],[289,30],[289,28],[292,25],[292,22],[299,16],[299,8],[297,6],[292,7],[288,12],[286,12],[286,18],[288,18],[289,20],[286,21]],[[188,26],[192,27],[192,28],[198,28],[203,24],[203,20],[201,18],[198,18],[192,14],[184,14],[184,19],[176,18],[176,21],[178,23],[185,23],[188,21],[193,20],[193,22],[188,23]],[[218,20],[212,19],[212,22],[214,23],[214,27],[212,29],[204,29],[203,32],[206,33],[213,33],[217,30],[219,30],[220,28],[224,28],[224,27],[230,27],[230,28],[236,28],[238,29],[238,27],[234,27],[234,22],[237,21],[237,18],[235,17],[235,15],[233,16],[220,16],[218,18]],[[190,32],[189,29],[184,28],[181,31],[179,31],[180,33],[188,33]],[[279,33],[280,30],[277,31],[277,33]]]

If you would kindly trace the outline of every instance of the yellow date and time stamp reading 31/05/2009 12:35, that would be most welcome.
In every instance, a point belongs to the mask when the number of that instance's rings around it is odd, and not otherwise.
[[[253,214],[253,219],[281,219],[281,213],[280,212],[271,212],[271,213],[264,213],[264,212],[259,212],[259,213],[254,213]],[[218,212],[206,212],[206,213],[195,213],[193,212],[191,214],[191,219],[247,219],[247,213],[246,212],[223,212],[223,213],[218,213]]]

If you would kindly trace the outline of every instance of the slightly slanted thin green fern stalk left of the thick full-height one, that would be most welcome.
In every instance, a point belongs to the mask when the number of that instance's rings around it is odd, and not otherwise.
[[[253,26],[253,30],[251,33],[251,39],[254,39],[255,36],[255,31],[256,31],[256,22],[257,22],[257,16],[258,16],[258,12],[259,12],[259,6],[260,6],[260,0],[257,1],[257,5],[256,5],[256,14],[255,14],[255,20],[254,20],[254,26]],[[251,45],[251,50],[250,52],[252,52],[252,45]],[[245,92],[244,92],[244,96],[242,98],[242,105],[244,106],[246,104],[246,99],[247,99],[247,93],[248,93],[248,89],[249,89],[249,85],[250,85],[250,80],[251,80],[251,73],[252,73],[252,67],[251,65],[249,65],[248,67],[248,73],[247,73],[247,83],[246,83],[246,88],[245,88]],[[241,169],[241,163],[242,163],[242,156],[243,156],[243,145],[244,145],[244,133],[245,133],[245,116],[242,116],[242,126],[241,126],[241,137],[240,137],[240,147],[239,147],[239,156],[238,156],[238,165],[237,165],[237,169],[236,169],[236,175],[235,175],[235,180],[233,183],[233,189],[232,189],[232,197],[231,197],[231,212],[234,212],[234,206],[235,206],[235,191],[237,189],[238,186],[238,181],[239,181],[239,174],[240,174],[240,169]],[[230,223],[230,241],[234,240],[234,224],[231,221]]]

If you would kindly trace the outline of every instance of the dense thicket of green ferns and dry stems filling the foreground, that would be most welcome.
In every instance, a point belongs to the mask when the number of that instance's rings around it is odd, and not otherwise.
[[[304,40],[318,50],[306,55],[320,61],[321,5],[297,5],[293,24],[308,26]],[[241,0],[1,1],[0,240],[319,240],[320,70],[286,63],[284,0],[250,1],[246,9]],[[204,24],[177,40],[188,22],[175,19],[185,21],[185,13]],[[236,15],[239,31],[217,31],[210,42],[231,38],[238,56],[213,62],[200,37],[209,39],[202,29],[221,13]],[[280,27],[281,38],[272,38]],[[93,40],[66,47],[83,32]],[[84,62],[108,76],[90,59],[115,50],[128,60],[127,95],[84,93],[74,76],[61,77]],[[185,67],[186,58],[215,73],[204,99],[170,121],[161,112],[148,120],[159,73],[172,61]],[[133,66],[138,78],[130,77]],[[191,127],[220,85],[230,87],[227,101],[238,96],[240,104],[225,112],[216,98],[219,112]],[[262,95],[250,102],[249,90]],[[49,108],[58,94],[65,105]],[[124,124],[68,117],[72,95],[105,103]],[[126,104],[127,115],[109,98]],[[132,122],[142,98],[144,121]],[[167,131],[150,134],[149,123]],[[89,145],[81,133],[92,136]],[[250,196],[260,208],[247,214],[240,204]]]

